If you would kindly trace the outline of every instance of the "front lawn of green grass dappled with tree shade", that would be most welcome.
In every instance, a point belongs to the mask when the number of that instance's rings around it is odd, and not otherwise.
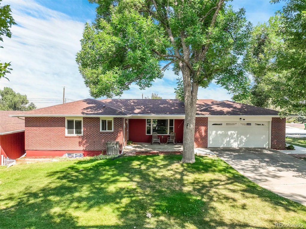
[[[2,167],[0,227],[306,227],[305,206],[259,187],[222,160],[180,160],[144,155]]]

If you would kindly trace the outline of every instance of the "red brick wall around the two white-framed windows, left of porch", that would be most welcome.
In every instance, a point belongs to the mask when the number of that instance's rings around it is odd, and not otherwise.
[[[123,118],[114,118],[114,131],[100,132],[99,117],[83,117],[83,135],[65,136],[65,117],[26,117],[26,150],[106,150],[107,141],[123,143]]]

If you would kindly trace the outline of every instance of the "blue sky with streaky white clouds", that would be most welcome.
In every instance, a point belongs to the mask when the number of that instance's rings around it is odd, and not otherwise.
[[[9,80],[0,80],[0,89],[11,87],[26,94],[37,107],[62,103],[65,86],[66,102],[91,98],[75,62],[80,50],[80,39],[86,22],[95,19],[96,5],[87,0],[4,0],[11,5],[18,25],[11,28],[12,38],[4,38],[0,60],[10,62],[13,68]],[[282,8],[283,3],[270,4],[269,0],[233,0],[234,9],[244,7],[246,17],[254,25],[265,22]],[[177,76],[171,69],[153,87],[139,90],[131,86],[121,98],[142,98],[157,93],[162,98],[175,98]],[[200,89],[198,98],[226,100],[232,95],[211,84]]]

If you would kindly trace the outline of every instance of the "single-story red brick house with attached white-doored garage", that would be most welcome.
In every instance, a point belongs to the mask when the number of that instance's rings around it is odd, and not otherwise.
[[[106,142],[183,142],[184,103],[176,99],[84,99],[12,115],[25,119],[27,156],[97,155]],[[285,118],[275,110],[232,101],[199,99],[195,147],[284,149]]]

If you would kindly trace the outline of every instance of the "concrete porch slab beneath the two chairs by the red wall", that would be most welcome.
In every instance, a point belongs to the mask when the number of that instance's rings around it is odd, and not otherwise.
[[[126,145],[123,152],[151,152],[151,151],[163,151],[163,152],[177,152],[183,151],[183,144],[177,143],[173,145],[172,143],[165,144],[154,143],[151,145],[147,142],[133,142],[132,145]]]

